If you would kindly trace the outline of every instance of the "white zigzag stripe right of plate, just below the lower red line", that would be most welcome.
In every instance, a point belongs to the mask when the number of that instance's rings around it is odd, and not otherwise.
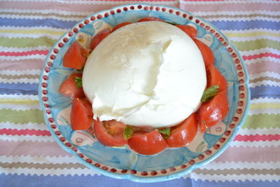
[[[280,141],[232,141],[230,142],[231,147],[239,148],[239,147],[251,147],[251,148],[258,148],[258,147],[267,147],[267,146],[280,146]]]

